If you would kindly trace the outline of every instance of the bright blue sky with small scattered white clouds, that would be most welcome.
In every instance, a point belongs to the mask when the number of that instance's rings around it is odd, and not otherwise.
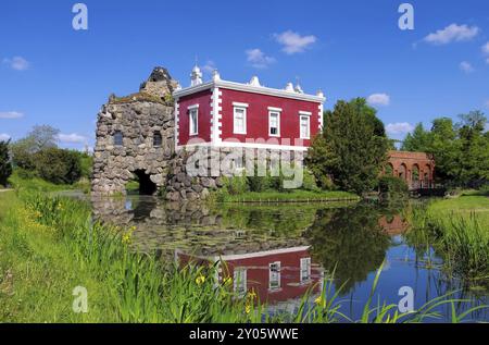
[[[402,2],[413,30],[398,26]],[[93,146],[111,93],[137,91],[155,65],[187,86],[196,56],[229,81],[299,78],[324,90],[326,109],[372,96],[394,138],[434,118],[489,113],[486,0],[87,0],[88,30],[72,27],[75,3],[1,1],[0,138],[50,124],[61,146]]]

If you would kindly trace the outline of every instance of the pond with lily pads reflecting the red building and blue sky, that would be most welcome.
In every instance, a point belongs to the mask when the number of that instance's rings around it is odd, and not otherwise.
[[[163,260],[224,261],[221,275],[234,276],[237,293],[254,289],[271,312],[294,312],[311,289],[318,295],[324,278],[334,272],[341,311],[358,320],[377,270],[383,272],[373,298],[396,304],[414,292],[417,309],[449,292],[457,315],[489,304],[489,293],[469,287],[442,270],[441,259],[410,238],[410,205],[381,208],[368,204],[168,204],[150,196],[92,200],[97,218],[135,226],[136,250],[156,252]],[[384,266],[383,266],[384,262]],[[401,289],[401,292],[400,292]],[[451,305],[437,308],[449,321]],[[429,320],[428,320],[429,321]],[[465,321],[489,321],[489,310],[472,312]]]

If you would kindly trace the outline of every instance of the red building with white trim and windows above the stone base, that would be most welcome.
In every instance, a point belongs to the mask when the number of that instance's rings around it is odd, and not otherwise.
[[[322,91],[306,95],[301,87],[264,87],[258,77],[248,84],[223,81],[214,71],[203,83],[195,66],[191,85],[175,98],[176,147],[208,145],[305,150],[323,125]]]

